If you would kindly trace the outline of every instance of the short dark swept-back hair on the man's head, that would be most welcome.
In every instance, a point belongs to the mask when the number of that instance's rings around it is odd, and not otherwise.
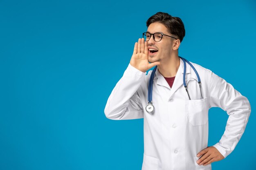
[[[178,39],[180,39],[180,42],[182,42],[185,36],[185,28],[182,20],[179,17],[173,17],[168,13],[158,12],[148,18],[146,22],[147,27],[154,22],[164,24],[168,31],[173,35],[177,35],[179,37]]]

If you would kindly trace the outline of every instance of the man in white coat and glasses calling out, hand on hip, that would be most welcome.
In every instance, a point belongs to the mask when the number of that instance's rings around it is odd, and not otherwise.
[[[186,62],[184,72],[178,55],[185,36],[180,18],[158,12],[146,24],[148,30],[135,43],[130,64],[108,98],[105,115],[113,120],[144,118],[142,170],[211,170],[211,163],[227,157],[243,135],[251,113],[249,101],[207,68],[191,62],[201,89]],[[148,75],[146,71],[154,66],[154,110],[148,112],[152,71]],[[227,111],[229,118],[220,141],[207,147],[211,107]]]

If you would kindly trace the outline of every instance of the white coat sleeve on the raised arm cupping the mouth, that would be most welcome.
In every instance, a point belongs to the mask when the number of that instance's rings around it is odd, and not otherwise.
[[[108,119],[143,118],[143,108],[137,90],[145,76],[146,72],[128,65],[123,77],[117,82],[108,98],[104,110]]]

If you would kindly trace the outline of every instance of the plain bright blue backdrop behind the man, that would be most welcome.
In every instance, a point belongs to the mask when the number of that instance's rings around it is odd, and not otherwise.
[[[158,11],[184,22],[179,55],[252,106],[240,142],[213,170],[256,169],[254,0],[0,0],[0,170],[141,170],[143,119],[110,120],[104,108]],[[209,146],[227,118],[209,110]]]

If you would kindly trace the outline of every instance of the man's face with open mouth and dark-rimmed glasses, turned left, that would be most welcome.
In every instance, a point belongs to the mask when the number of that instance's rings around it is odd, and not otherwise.
[[[149,33],[163,33],[169,36],[176,37],[175,35],[172,35],[168,32],[168,29],[164,24],[161,24],[159,22],[154,22],[148,26],[147,32]],[[148,61],[150,63],[152,62],[164,62],[168,60],[171,56],[171,53],[173,53],[173,46],[175,45],[174,38],[168,37],[166,35],[163,35],[162,40],[159,42],[155,42],[153,39],[153,35],[148,40],[148,49],[156,49],[158,50],[155,53],[151,53],[150,50],[148,50]]]

